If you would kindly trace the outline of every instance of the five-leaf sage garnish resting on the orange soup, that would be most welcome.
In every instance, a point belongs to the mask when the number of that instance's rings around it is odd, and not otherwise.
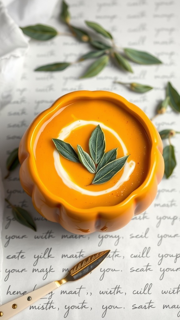
[[[52,140],[61,156],[70,161],[81,163],[88,172],[95,174],[91,184],[102,184],[109,181],[123,168],[128,158],[128,156],[123,156],[116,159],[118,148],[105,152],[105,136],[99,124],[89,139],[90,155],[80,145],[77,145],[78,153],[76,153],[69,143],[60,139],[53,138]]]

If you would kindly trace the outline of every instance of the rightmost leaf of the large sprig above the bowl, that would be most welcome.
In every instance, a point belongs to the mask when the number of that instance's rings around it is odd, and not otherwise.
[[[148,52],[124,48],[127,57],[139,64],[159,64],[162,63],[158,58],[154,57]]]

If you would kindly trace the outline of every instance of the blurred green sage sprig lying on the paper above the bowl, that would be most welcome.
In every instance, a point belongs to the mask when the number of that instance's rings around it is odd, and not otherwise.
[[[63,71],[72,63],[77,63],[87,59],[96,59],[85,71],[80,78],[94,77],[99,74],[107,65],[109,60],[113,60],[115,65],[126,72],[133,72],[130,61],[138,64],[159,64],[161,61],[148,52],[139,51],[131,48],[122,48],[119,52],[114,43],[112,34],[103,28],[99,23],[94,21],[85,21],[86,27],[94,32],[94,36],[100,35],[101,39],[96,40],[88,34],[85,29],[78,28],[71,24],[71,15],[68,4],[63,0],[61,4],[60,20],[65,23],[70,31],[70,35],[76,37],[78,41],[86,42],[96,51],[89,51],[82,55],[77,61],[60,61],[52,64],[47,64],[35,68],[35,71]],[[63,32],[58,32],[55,28],[43,24],[36,24],[21,28],[24,34],[33,39],[47,41],[57,35],[63,35]],[[66,35],[66,33],[64,33]],[[132,87],[132,90],[134,87]],[[150,90],[150,89],[149,89]],[[138,89],[134,91],[138,92]],[[148,90],[147,90],[148,91]],[[142,91],[139,91],[142,92]]]

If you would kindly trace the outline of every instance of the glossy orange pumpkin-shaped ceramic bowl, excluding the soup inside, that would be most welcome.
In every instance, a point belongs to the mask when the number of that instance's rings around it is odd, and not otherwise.
[[[46,117],[57,112],[61,104],[67,106],[72,100],[87,98],[114,101],[134,117],[136,117],[148,136],[151,144],[148,173],[143,183],[135,189],[124,201],[113,206],[99,206],[90,209],[76,208],[61,197],[48,191],[38,176],[33,148],[37,137],[35,132],[46,121]],[[39,114],[25,132],[19,147],[20,182],[23,189],[32,197],[36,210],[47,220],[58,222],[68,231],[75,234],[92,233],[94,231],[110,232],[125,226],[135,214],[146,210],[157,193],[157,186],[164,174],[162,157],[162,141],[151,120],[134,104],[118,94],[106,91],[76,91],[68,93],[53,105]],[[48,184],[48,181],[47,181]]]

